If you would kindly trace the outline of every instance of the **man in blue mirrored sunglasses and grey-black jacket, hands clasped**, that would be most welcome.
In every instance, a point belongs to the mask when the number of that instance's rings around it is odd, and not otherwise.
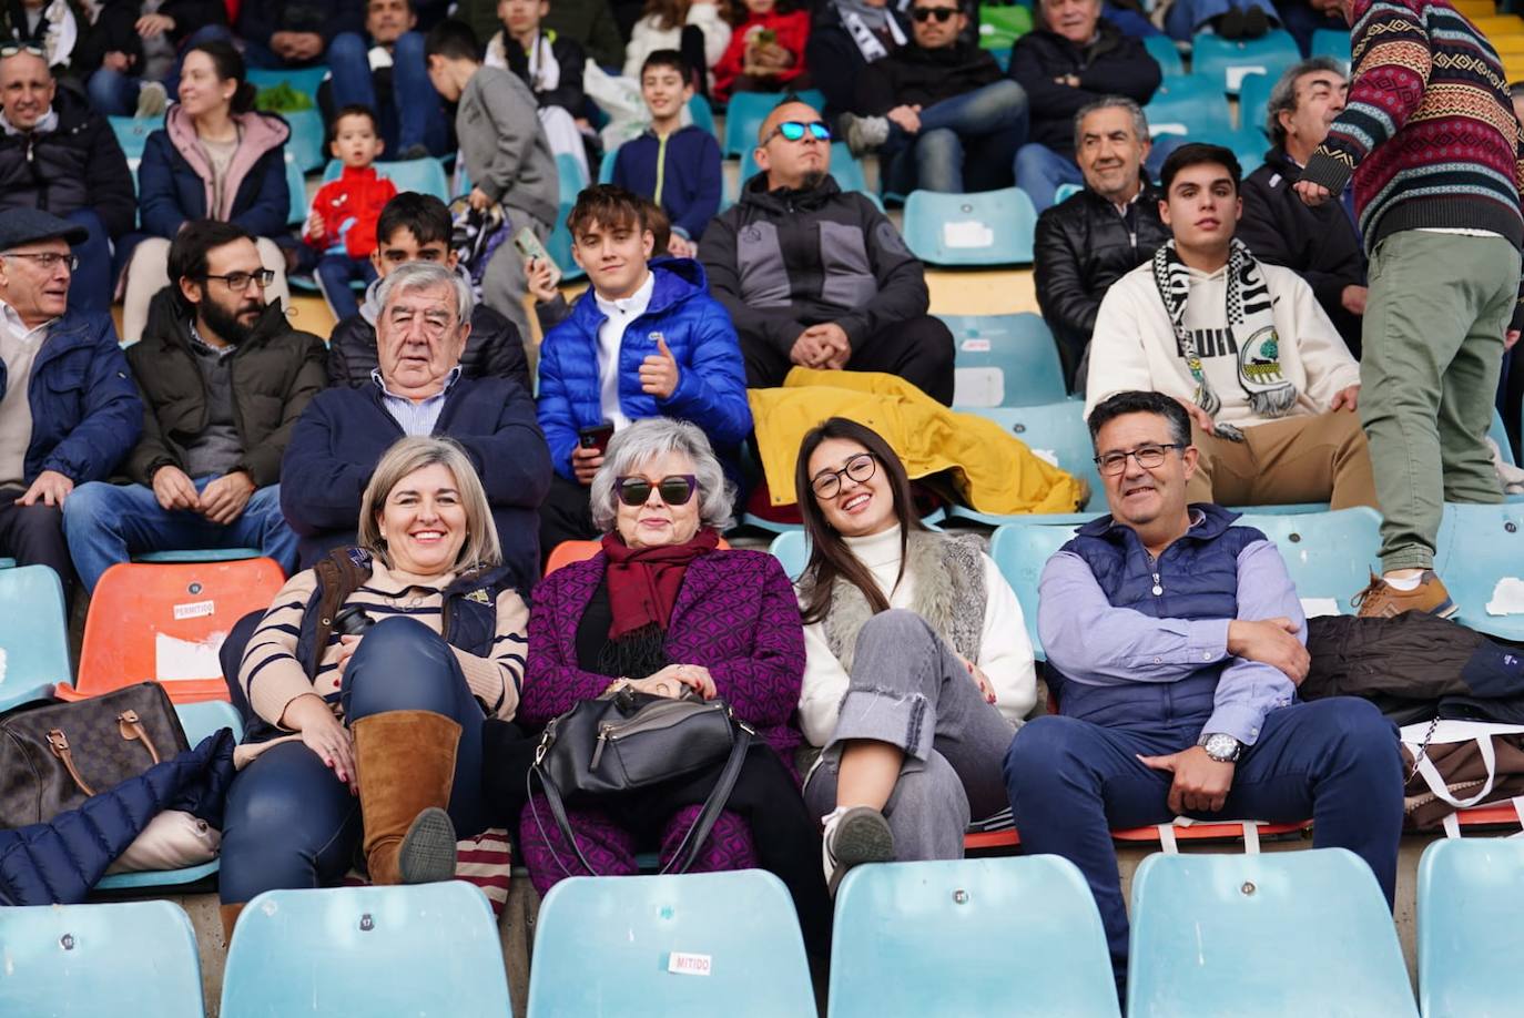
[[[885,372],[951,405],[952,334],[927,314],[924,267],[867,195],[832,180],[826,122],[785,99],[762,123],[756,162],[700,250],[747,386],[780,386],[796,364]]]

